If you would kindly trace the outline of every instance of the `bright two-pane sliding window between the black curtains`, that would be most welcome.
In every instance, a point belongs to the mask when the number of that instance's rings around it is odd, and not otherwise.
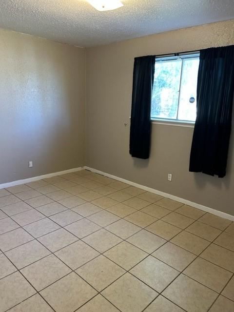
[[[199,53],[156,58],[151,118],[196,119]]]

